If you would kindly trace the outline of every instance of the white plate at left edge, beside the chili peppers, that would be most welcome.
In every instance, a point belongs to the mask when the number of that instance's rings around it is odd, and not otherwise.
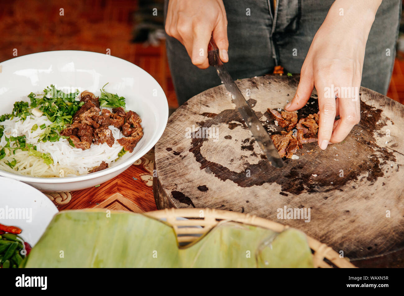
[[[13,179],[0,177],[0,188],[0,223],[21,228],[20,236],[33,247],[58,212],[56,206],[39,190]]]

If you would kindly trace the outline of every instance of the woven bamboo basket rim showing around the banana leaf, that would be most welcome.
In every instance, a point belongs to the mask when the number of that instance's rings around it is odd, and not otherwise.
[[[144,214],[160,220],[166,220],[168,224],[172,225],[181,245],[195,241],[223,220],[259,226],[276,232],[282,232],[288,228],[287,225],[250,214],[215,209],[171,208]],[[181,218],[187,218],[188,220],[181,220]],[[313,253],[314,267],[332,268],[332,265],[334,265],[340,268],[355,268],[355,265],[349,262],[348,258],[341,258],[337,252],[326,244],[322,244],[308,235],[307,241]],[[325,260],[328,260],[332,265]]]

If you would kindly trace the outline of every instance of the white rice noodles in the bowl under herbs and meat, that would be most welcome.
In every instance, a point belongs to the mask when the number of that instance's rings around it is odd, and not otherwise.
[[[0,147],[6,145],[5,137],[25,135],[26,143],[36,145],[37,151],[50,153],[53,159],[53,164],[47,165],[41,158],[28,155],[28,151],[16,150],[15,155],[8,153],[0,160],[0,170],[36,177],[77,176],[87,174],[91,169],[99,166],[102,161],[111,164],[118,159],[122,146],[116,140],[123,137],[118,128],[109,126],[115,139],[112,147],[109,147],[107,143],[91,144],[90,149],[82,150],[72,147],[69,141],[63,138],[56,142],[38,143],[38,136],[44,132],[39,126],[42,124],[48,126],[51,123],[46,116],[36,117],[34,115],[28,116],[24,121],[19,117],[14,117],[11,120],[0,122],[0,125],[4,126]],[[37,130],[31,131],[35,124],[38,126]],[[13,158],[17,164],[11,168],[7,163],[13,161]]]

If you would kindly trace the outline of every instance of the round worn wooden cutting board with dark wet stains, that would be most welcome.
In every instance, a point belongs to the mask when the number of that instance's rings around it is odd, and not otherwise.
[[[299,75],[274,75],[236,84],[274,134],[282,128],[267,108],[283,109],[298,82]],[[156,145],[157,207],[254,214],[301,229],[349,258],[404,248],[404,106],[367,88],[360,97],[360,124],[342,143],[325,151],[303,145],[299,159],[275,168],[223,85],[198,94],[168,119]],[[298,117],[317,112],[313,92]],[[299,208],[306,218],[287,215]]]

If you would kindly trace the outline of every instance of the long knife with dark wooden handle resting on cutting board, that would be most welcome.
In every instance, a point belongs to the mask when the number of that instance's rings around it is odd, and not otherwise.
[[[213,37],[210,38],[210,42],[208,44],[208,59],[209,65],[216,68],[219,78],[222,80],[222,83],[225,85],[226,89],[231,93],[233,102],[236,104],[236,107],[244,119],[244,122],[247,124],[252,136],[254,136],[268,161],[271,163],[271,165],[277,168],[282,168],[283,162],[278,154],[278,149],[275,148],[274,142],[272,142],[267,131],[262,126],[261,122],[259,122],[257,115],[255,115],[255,112],[248,105],[236,83],[234,83],[233,78],[231,78],[229,72],[223,65],[221,59],[219,58],[219,48],[216,46]]]

